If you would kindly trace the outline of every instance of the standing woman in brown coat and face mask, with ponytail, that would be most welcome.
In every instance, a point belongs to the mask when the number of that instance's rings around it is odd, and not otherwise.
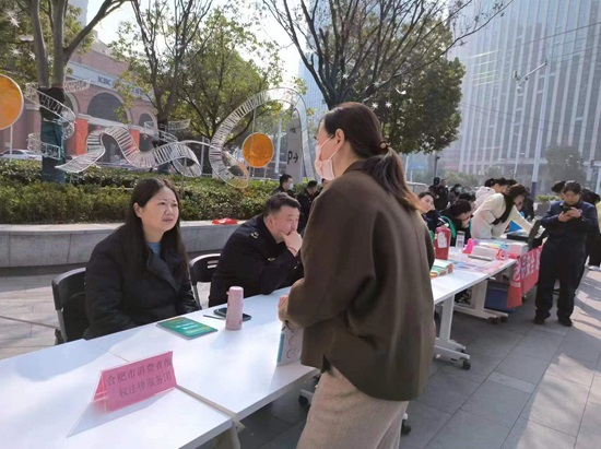
[[[400,159],[368,107],[344,103],[319,127],[305,277],[280,318],[305,329],[302,362],[323,369],[298,448],[398,448],[423,391],[435,328],[434,250]]]

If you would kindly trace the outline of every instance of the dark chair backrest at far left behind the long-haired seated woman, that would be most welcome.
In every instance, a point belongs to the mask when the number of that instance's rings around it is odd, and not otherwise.
[[[56,276],[52,280],[52,296],[62,339],[66,342],[80,340],[90,326],[85,315],[85,269]]]

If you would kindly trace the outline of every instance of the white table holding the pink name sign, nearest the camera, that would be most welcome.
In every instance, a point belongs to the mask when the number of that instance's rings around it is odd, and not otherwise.
[[[99,373],[125,363],[84,340],[0,361],[0,446],[193,448],[232,428],[177,389],[105,413],[92,402]]]

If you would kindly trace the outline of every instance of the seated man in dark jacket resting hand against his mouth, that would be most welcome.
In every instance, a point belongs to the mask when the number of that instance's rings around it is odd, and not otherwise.
[[[299,215],[298,201],[278,193],[267,200],[262,215],[232,234],[211,281],[210,307],[227,303],[232,286],[243,287],[245,297],[268,295],[303,277]]]

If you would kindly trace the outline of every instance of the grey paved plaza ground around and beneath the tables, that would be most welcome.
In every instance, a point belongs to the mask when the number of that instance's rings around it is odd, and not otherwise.
[[[0,358],[54,344],[52,277],[0,277]],[[534,326],[532,317],[531,295],[498,326],[456,314],[452,336],[468,345],[472,368],[434,362],[426,391],[409,406],[413,430],[400,447],[601,447],[601,273],[581,285],[574,328],[553,319]],[[244,420],[243,448],[294,448],[307,413],[297,398],[292,391]]]

